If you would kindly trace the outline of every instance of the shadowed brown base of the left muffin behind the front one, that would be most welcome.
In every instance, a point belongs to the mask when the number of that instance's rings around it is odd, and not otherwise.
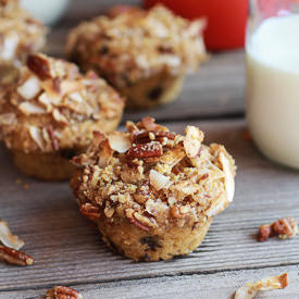
[[[15,166],[25,175],[42,180],[63,180],[72,176],[74,165],[71,164],[70,159],[78,151],[25,153],[12,150],[11,153]]]

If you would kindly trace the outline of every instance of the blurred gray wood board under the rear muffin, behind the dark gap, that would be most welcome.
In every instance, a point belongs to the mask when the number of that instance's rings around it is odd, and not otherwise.
[[[74,1],[61,24],[49,34],[48,52],[63,57],[70,29],[115,3],[121,1]],[[177,101],[150,111],[128,111],[124,120],[137,121],[149,113],[158,121],[240,115],[245,110],[244,94],[244,51],[213,53],[197,74],[187,77]]]

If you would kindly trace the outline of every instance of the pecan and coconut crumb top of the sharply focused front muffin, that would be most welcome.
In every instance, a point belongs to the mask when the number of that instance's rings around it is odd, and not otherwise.
[[[183,136],[149,116],[126,127],[95,132],[88,151],[73,159],[79,170],[71,186],[83,214],[126,217],[149,232],[196,225],[233,200],[234,160],[223,146],[202,145],[198,127]]]

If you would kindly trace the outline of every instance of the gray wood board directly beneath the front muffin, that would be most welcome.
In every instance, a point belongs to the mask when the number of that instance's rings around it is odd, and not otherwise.
[[[28,267],[0,264],[0,290],[85,285],[122,279],[212,274],[299,263],[299,238],[256,240],[258,227],[282,216],[299,219],[299,173],[265,160],[242,138],[245,122],[192,122],[207,133],[207,144],[224,144],[238,165],[236,196],[215,217],[203,244],[191,254],[166,262],[135,263],[111,252],[84,219],[67,183],[23,177],[3,149],[0,153],[0,216],[25,241],[36,263]],[[170,124],[182,132],[184,123]],[[15,183],[22,178],[28,190]]]

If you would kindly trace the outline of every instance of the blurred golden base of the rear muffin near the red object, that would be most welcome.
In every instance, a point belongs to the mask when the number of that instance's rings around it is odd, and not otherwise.
[[[148,109],[174,101],[182,90],[184,79],[185,74],[171,76],[160,72],[119,91],[127,99],[126,108]]]

